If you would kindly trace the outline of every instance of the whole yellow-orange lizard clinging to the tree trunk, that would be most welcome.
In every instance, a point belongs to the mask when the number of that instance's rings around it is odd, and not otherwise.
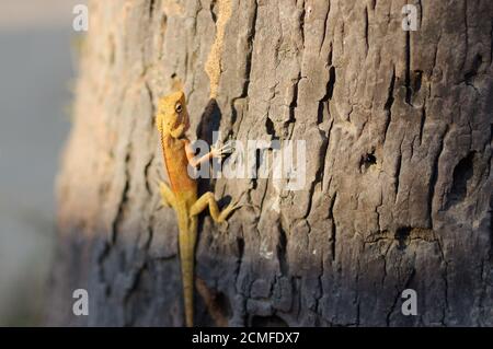
[[[170,182],[170,185],[164,182],[159,183],[161,203],[164,207],[173,208],[177,219],[185,324],[187,327],[192,327],[197,216],[208,207],[213,220],[216,223],[222,223],[233,210],[239,208],[239,205],[231,202],[222,211],[219,211],[211,191],[205,193],[199,198],[197,196],[197,182],[190,177],[187,166],[196,167],[213,158],[221,158],[226,147],[211,147],[209,153],[198,160],[195,158],[191,141],[185,136],[190,128],[190,118],[183,91],[160,98],[156,126],[160,135],[165,170]]]

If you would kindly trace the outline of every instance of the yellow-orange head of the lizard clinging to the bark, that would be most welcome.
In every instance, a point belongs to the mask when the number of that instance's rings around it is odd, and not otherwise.
[[[190,128],[185,93],[179,91],[159,101],[156,127],[162,135],[172,135],[175,138],[185,133]]]

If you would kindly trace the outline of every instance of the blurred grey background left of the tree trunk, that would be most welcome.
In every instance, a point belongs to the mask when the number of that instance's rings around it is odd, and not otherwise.
[[[85,1],[0,1],[0,326],[38,325]]]

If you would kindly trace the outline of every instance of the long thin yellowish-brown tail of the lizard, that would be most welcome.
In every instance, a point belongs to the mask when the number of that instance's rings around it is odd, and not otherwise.
[[[194,256],[196,240],[196,218],[187,218],[183,224],[180,224],[179,235],[186,327],[194,326]]]

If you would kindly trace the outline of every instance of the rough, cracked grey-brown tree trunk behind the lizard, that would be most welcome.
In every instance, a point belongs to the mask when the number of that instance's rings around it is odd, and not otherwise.
[[[417,31],[405,0],[92,1],[47,322],[184,324],[153,127],[183,85],[192,139],[307,150],[300,190],[200,183],[246,203],[199,223],[196,325],[492,326],[493,2],[409,2]]]

